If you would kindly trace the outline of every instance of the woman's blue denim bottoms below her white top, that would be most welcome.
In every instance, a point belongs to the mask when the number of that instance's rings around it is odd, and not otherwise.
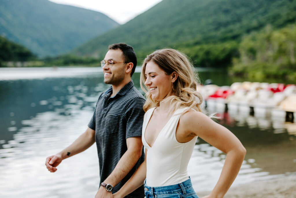
[[[171,186],[160,186],[160,187],[149,187],[146,185],[146,180],[144,181],[144,192],[146,198],[198,198],[195,193],[190,177],[188,180],[171,185]]]

